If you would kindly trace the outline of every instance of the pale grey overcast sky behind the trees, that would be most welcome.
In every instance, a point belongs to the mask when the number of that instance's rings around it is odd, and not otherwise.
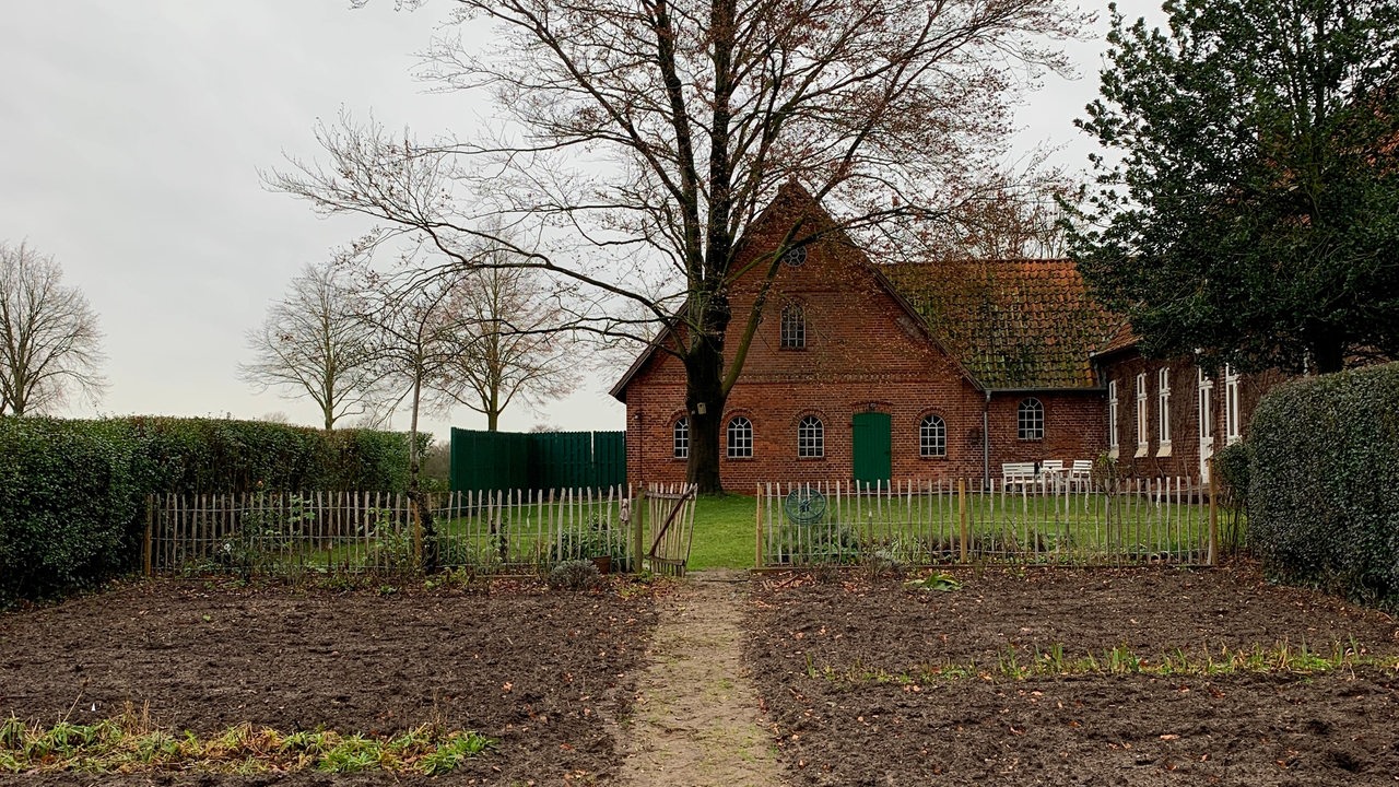
[[[1129,17],[1154,8],[1119,6]],[[285,154],[313,158],[312,125],[341,108],[421,136],[470,136],[491,108],[428,92],[411,73],[446,10],[397,13],[392,0],[360,10],[347,0],[0,4],[0,239],[53,255],[105,332],[111,388],[95,409],[67,415],[280,412],[319,423],[308,401],[255,394],[236,365],[249,357],[245,332],[291,276],[364,225],[318,218],[264,190],[259,171]],[[1091,144],[1073,118],[1097,92],[1105,29],[1100,20],[1091,41],[1069,46],[1077,81],[1048,77],[1021,109],[1024,148],[1063,146],[1058,161],[1086,165]],[[589,379],[543,413],[508,410],[501,426],[621,429],[611,382],[611,372]],[[484,419],[462,408],[427,427],[445,438],[449,424],[483,429]]]

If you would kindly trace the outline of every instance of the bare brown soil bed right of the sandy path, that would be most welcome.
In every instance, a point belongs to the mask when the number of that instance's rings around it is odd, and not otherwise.
[[[1126,646],[1160,664],[1220,648],[1399,654],[1392,618],[1216,571],[960,574],[958,592],[897,581],[754,587],[747,655],[800,784],[1396,784],[1393,668],[1010,679]],[[971,665],[965,676],[870,675]],[[851,681],[852,675],[865,678]]]

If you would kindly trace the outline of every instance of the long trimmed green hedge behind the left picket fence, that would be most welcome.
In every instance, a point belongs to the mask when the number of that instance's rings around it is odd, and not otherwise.
[[[0,417],[0,606],[133,570],[147,494],[403,490],[407,448],[402,433],[262,422]]]

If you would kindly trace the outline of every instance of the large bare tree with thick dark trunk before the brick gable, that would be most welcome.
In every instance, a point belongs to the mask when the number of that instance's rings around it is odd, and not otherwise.
[[[1004,146],[1007,98],[1065,69],[1046,41],[1084,21],[1063,0],[457,0],[452,22],[494,24],[497,45],[443,35],[428,76],[492,91],[505,126],[422,144],[341,118],[318,130],[327,162],[267,181],[457,266],[490,265],[462,239],[492,235],[516,252],[506,265],[567,280],[592,307],[574,329],[663,332],[687,374],[687,475],[711,492],[723,403],[778,260],[817,231],[793,220],[740,265],[758,211],[795,182],[837,216],[821,231],[907,248],[975,189]],[[734,314],[740,277],[757,295]]]

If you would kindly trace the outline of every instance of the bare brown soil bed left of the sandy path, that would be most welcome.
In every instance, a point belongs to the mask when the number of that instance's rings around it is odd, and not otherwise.
[[[499,741],[446,779],[6,776],[59,784],[564,784],[607,781],[617,718],[656,623],[646,594],[334,594],[136,584],[0,616],[0,718],[53,724],[150,703],[166,728],[250,723],[392,734],[424,723]],[[95,710],[94,710],[95,709]],[[567,777],[567,779],[565,779]]]

